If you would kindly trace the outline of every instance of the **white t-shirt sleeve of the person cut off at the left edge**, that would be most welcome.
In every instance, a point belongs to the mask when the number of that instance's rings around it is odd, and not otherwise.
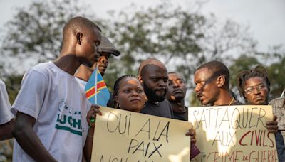
[[[0,125],[6,124],[14,118],[11,113],[11,104],[8,99],[5,83],[0,80]]]

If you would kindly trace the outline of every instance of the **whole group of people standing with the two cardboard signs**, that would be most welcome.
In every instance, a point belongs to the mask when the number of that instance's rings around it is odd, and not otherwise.
[[[100,27],[83,17],[71,18],[63,28],[63,46],[56,60],[30,68],[14,104],[0,80],[0,140],[15,138],[13,161],[90,161],[95,119],[100,107],[88,102],[84,87],[96,66],[104,76],[108,58],[120,55],[101,35]],[[264,70],[244,70],[237,76],[239,102],[229,88],[229,69],[213,60],[195,70],[194,82],[201,106],[269,104],[270,81]],[[188,121],[184,78],[157,58],[147,58],[138,76],[115,81],[108,107]],[[285,99],[281,100],[285,107]],[[278,114],[277,114],[278,115]],[[280,121],[279,121],[280,122]],[[279,161],[285,161],[284,139],[276,114],[266,122],[276,134]],[[195,130],[185,132],[195,145]]]

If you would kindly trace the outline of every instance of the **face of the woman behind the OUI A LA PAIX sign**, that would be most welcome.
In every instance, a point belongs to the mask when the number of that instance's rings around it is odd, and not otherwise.
[[[144,107],[146,96],[138,79],[127,77],[120,81],[118,95],[115,96],[115,100],[120,104],[120,109],[140,112]]]

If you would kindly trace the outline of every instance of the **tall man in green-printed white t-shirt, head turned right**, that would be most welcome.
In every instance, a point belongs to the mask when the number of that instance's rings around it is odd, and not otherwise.
[[[13,161],[81,161],[89,102],[73,77],[100,53],[100,28],[83,17],[63,28],[60,56],[29,69],[12,106],[16,114]]]

